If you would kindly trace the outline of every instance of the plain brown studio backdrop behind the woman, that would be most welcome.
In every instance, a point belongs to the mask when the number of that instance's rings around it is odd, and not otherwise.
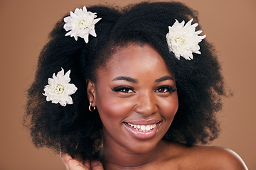
[[[139,0],[0,0],[1,170],[65,169],[58,155],[33,147],[21,125],[25,91],[33,81],[39,52],[55,22],[75,7],[106,2],[124,6]],[[203,33],[215,44],[226,83],[234,92],[232,98],[225,99],[218,115],[222,133],[210,145],[233,149],[249,169],[256,169],[256,1],[181,2],[199,12]]]

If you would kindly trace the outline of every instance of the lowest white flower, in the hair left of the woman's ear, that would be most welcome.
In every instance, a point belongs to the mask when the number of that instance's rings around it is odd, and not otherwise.
[[[70,70],[64,74],[64,69],[58,72],[57,76],[53,74],[53,78],[48,79],[48,85],[43,89],[46,96],[46,101],[52,101],[52,103],[60,103],[61,106],[66,106],[66,104],[73,104],[73,100],[70,97],[77,91],[77,87],[74,84],[69,84],[70,82]]]

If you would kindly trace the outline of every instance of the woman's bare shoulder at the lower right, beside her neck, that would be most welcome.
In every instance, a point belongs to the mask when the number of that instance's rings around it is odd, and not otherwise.
[[[189,170],[247,170],[238,154],[223,147],[169,144],[164,152],[166,162],[162,169]]]

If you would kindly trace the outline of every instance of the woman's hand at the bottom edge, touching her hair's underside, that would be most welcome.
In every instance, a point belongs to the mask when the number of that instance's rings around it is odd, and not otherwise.
[[[60,157],[65,164],[67,170],[104,170],[102,163],[99,161],[89,161],[79,162],[78,160],[70,157],[69,154],[61,153]]]

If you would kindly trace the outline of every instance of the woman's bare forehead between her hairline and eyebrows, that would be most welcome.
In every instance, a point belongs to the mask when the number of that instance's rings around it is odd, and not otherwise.
[[[120,47],[103,67],[97,69],[97,81],[106,77],[172,76],[163,58],[151,45],[128,44]],[[104,78],[103,78],[104,77]]]

